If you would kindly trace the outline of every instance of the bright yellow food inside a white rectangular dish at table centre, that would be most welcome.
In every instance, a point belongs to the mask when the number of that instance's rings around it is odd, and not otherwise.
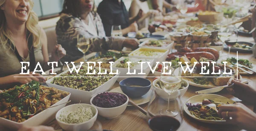
[[[166,52],[166,50],[154,50],[149,48],[140,48],[139,50],[130,53],[131,56],[141,56],[141,57],[160,57]]]

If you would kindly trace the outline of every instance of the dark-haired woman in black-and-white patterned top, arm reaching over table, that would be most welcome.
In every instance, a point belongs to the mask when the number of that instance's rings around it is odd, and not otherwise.
[[[92,38],[89,45],[85,45],[87,53],[138,47],[136,39],[106,37],[102,20],[95,12],[95,8],[93,0],[64,0],[61,18],[56,25],[58,43],[67,50],[63,61],[75,61],[83,57],[83,53],[77,47],[78,35]]]

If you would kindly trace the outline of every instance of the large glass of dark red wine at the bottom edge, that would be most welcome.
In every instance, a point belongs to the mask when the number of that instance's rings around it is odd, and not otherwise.
[[[178,90],[178,98],[171,101],[172,108],[175,108],[179,113],[175,116],[161,114],[161,109],[165,108],[167,101],[155,95],[155,88],[152,89],[151,100],[148,103],[147,117],[149,127],[153,131],[176,131],[183,123],[183,110],[180,101],[180,91]],[[154,97],[155,96],[155,97]]]

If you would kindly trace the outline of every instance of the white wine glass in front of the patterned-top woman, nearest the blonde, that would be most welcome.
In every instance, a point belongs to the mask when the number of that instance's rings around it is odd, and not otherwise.
[[[84,61],[85,59],[85,53],[88,51],[90,47],[90,42],[92,41],[91,38],[86,38],[81,34],[77,35],[77,48],[80,50],[82,53],[84,53]]]

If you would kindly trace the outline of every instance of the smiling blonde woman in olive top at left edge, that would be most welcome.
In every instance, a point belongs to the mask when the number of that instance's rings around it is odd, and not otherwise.
[[[29,61],[33,71],[40,62],[44,70],[50,69],[47,38],[38,25],[38,16],[32,11],[32,0],[0,0],[0,89],[13,84],[39,81],[41,75],[20,75],[21,61]],[[56,45],[50,61],[58,61],[66,51]],[[29,76],[16,78],[15,76]],[[31,77],[35,76],[35,77]]]

